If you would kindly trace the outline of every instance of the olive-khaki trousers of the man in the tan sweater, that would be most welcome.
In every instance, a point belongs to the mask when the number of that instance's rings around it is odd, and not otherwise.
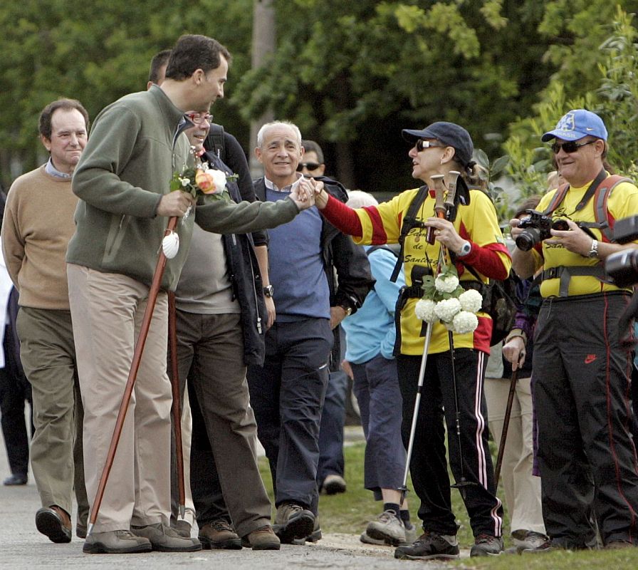
[[[75,487],[78,523],[85,527],[83,414],[70,312],[20,307],[16,328],[33,393],[31,470],[42,506],[56,504],[70,515]]]

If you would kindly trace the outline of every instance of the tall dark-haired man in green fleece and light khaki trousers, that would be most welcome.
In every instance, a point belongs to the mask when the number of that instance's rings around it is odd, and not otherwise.
[[[280,204],[198,201],[169,192],[192,156],[186,110],[206,113],[224,96],[230,53],[205,36],[182,36],[161,87],[127,95],[95,119],[73,177],[80,197],[67,253],[73,332],[85,406],[88,497],[95,499],[130,371],[135,340],[167,218],[178,223],[179,252],[162,289],[174,290],[194,222],[211,232],[244,233],[293,219],[313,202],[303,187]],[[98,520],[83,550],[91,554],[194,551],[197,539],[169,527],[170,406],[166,373],[167,296],[157,298],[135,389]],[[241,492],[241,490],[240,490]]]

